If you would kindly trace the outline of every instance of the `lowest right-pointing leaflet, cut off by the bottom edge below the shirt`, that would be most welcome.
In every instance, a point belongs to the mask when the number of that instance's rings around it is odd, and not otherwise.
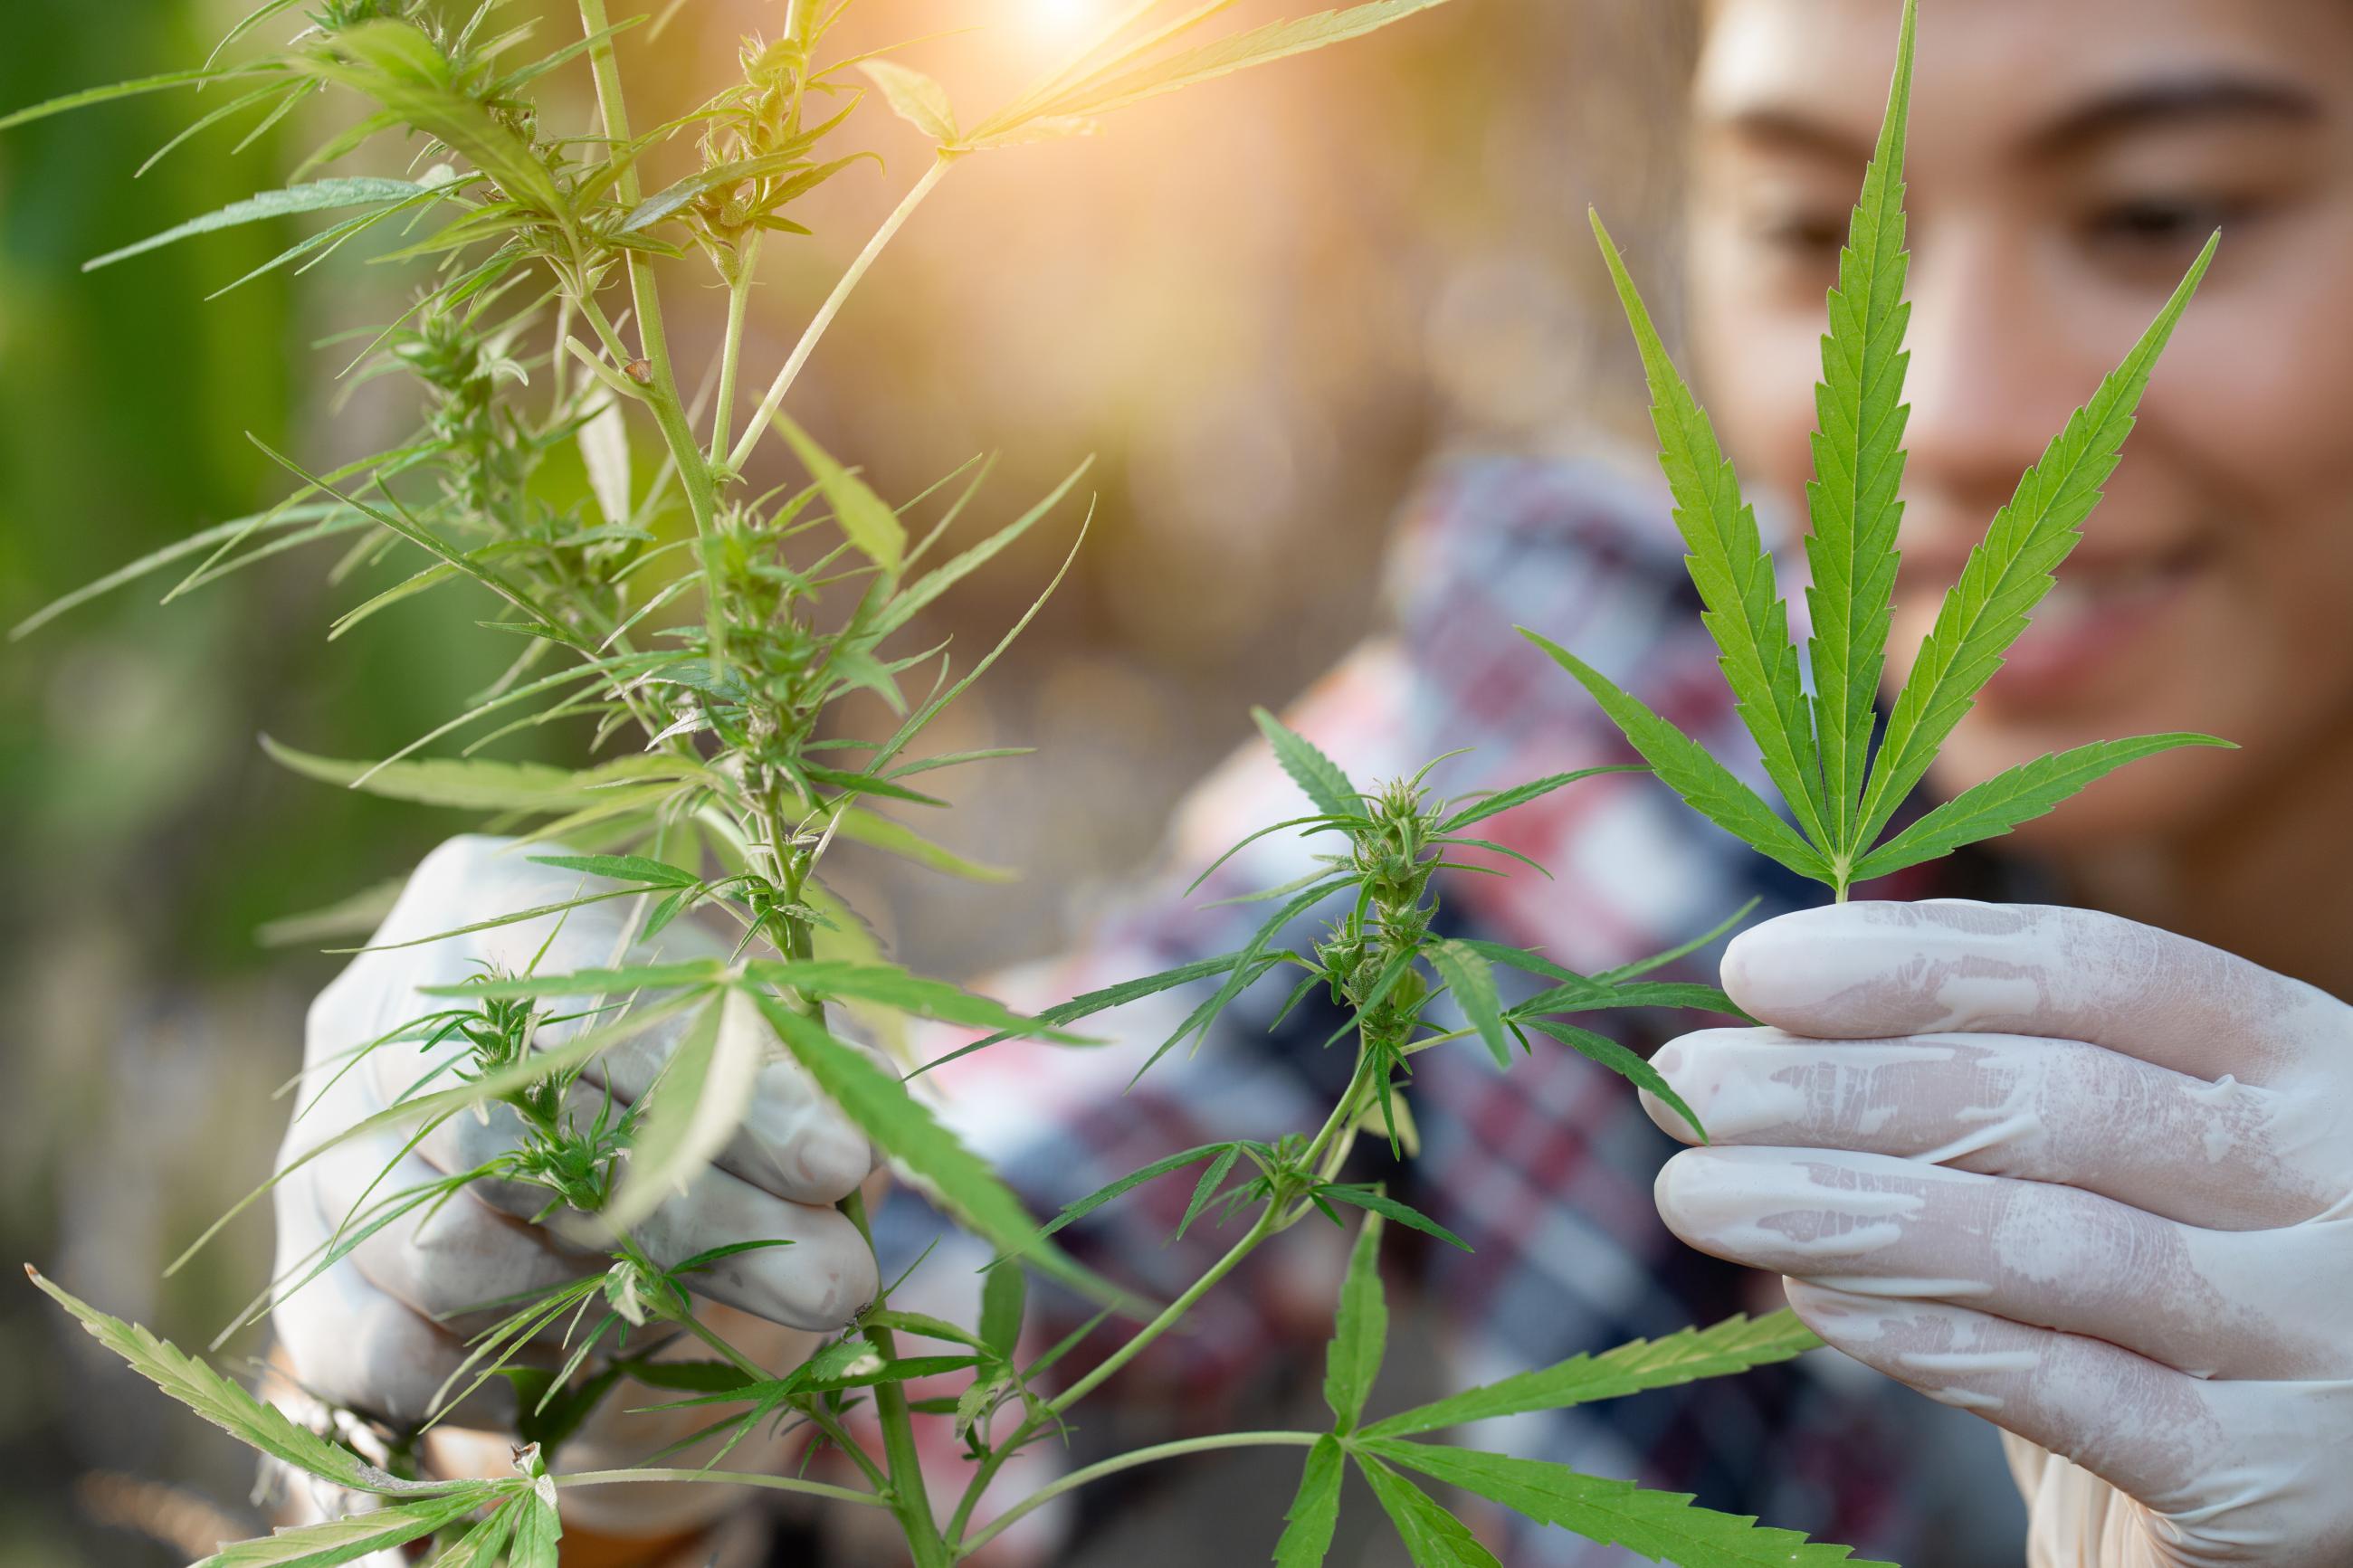
[[[1849,1547],[1807,1544],[1795,1530],[1774,1530],[1744,1514],[1692,1507],[1685,1493],[1652,1493],[1633,1481],[1605,1481],[1546,1460],[1395,1439],[1369,1439],[1358,1453],[1367,1476],[1377,1460],[1419,1469],[1537,1523],[1555,1523],[1595,1544],[1628,1547],[1680,1568],[1892,1568],[1849,1563]]]

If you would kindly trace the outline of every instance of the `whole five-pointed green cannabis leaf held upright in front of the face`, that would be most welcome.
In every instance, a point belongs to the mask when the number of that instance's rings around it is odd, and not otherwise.
[[[1772,557],[1732,465],[1668,360],[1609,230],[1593,216],[1602,261],[1642,353],[1659,465],[1675,501],[1675,527],[1689,548],[1701,621],[1715,639],[1718,663],[1758,743],[1765,776],[1788,804],[1795,827],[1640,698],[1520,628],[1593,693],[1635,752],[1694,811],[1793,872],[1828,884],[1840,900],[1857,882],[2009,832],[2125,762],[2181,745],[2228,745],[2212,736],[2165,733],[2040,757],[1962,792],[1875,846],[1906,795],[1927,776],[1937,748],[2026,630],[2026,616],[2052,588],[2052,569],[2082,538],[2082,522],[2132,433],[2132,411],[2219,240],[2207,240],[2148,331],[2026,470],[1986,541],[1969,552],[1873,752],[1904,512],[1897,501],[1908,414],[1904,327],[1911,317],[1904,301],[1904,141],[1915,12],[1918,0],[1906,0],[1887,113],[1838,256],[1831,329],[1821,339],[1814,477],[1807,482],[1812,529],[1805,541],[1814,576],[1807,588],[1812,696],[1800,689],[1798,649],[1774,590]]]

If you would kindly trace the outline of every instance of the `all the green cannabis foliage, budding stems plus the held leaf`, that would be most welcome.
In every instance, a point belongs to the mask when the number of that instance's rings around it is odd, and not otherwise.
[[[1407,1095],[1414,1058],[1438,1048],[1485,1048],[1497,1070],[1508,1070],[1515,1053],[1529,1053],[1539,1041],[1546,1041],[1544,1048],[1558,1044],[1649,1088],[1692,1119],[1640,1056],[1572,1018],[1624,1006],[1737,1011],[1715,987],[1652,978],[1722,936],[1732,922],[1598,976],[1511,945],[1442,936],[1435,924],[1440,872],[1499,875],[1489,856],[1513,856],[1478,837],[1473,830],[1480,823],[1617,766],[1449,799],[1431,788],[1445,764],[1440,757],[1412,778],[1362,790],[1306,738],[1259,712],[1259,726],[1308,811],[1252,839],[1306,835],[1325,849],[1315,870],[1254,896],[1271,912],[1240,950],[1075,997],[1038,1016],[1012,1013],[988,997],[889,964],[821,875],[826,851],[840,839],[936,870],[969,870],[889,811],[941,804],[925,795],[922,773],[1002,755],[913,755],[911,748],[1005,651],[1035,607],[962,670],[951,668],[944,649],[904,649],[904,635],[925,607],[1054,512],[1080,480],[1073,473],[998,531],[932,564],[934,550],[969,510],[986,463],[969,463],[892,505],[786,416],[795,376],[875,254],[967,158],[1080,134],[1099,115],[1144,96],[1362,35],[1435,2],[1377,0],[1193,42],[1198,28],[1231,0],[1193,7],[1136,0],[1066,66],[967,127],[932,78],[899,61],[873,54],[828,59],[824,45],[847,0],[795,0],[784,9],[774,40],[746,42],[736,61],[739,80],[694,113],[633,132],[616,45],[642,19],[614,24],[602,0],[579,0],[581,35],[548,52],[534,52],[532,24],[499,21],[501,0],[482,0],[464,14],[442,14],[433,0],[329,0],[306,14],[292,42],[259,59],[224,63],[216,56],[198,71],[87,92],[0,120],[5,127],[134,92],[221,82],[233,96],[198,118],[191,132],[238,115],[275,122],[313,94],[358,99],[358,118],[306,160],[304,176],[374,141],[414,141],[421,169],[412,176],[296,179],[94,263],[231,223],[355,209],[268,266],[318,266],[362,235],[398,235],[391,256],[426,263],[414,303],[369,336],[351,362],[353,376],[400,376],[414,386],[421,407],[414,433],[388,451],[327,473],[273,454],[294,480],[280,505],[134,562],[68,595],[19,632],[165,567],[186,567],[172,590],[181,592],[313,541],[341,548],[336,581],[372,574],[376,583],[334,623],[332,635],[424,592],[473,592],[494,616],[487,625],[515,639],[515,654],[466,712],[376,762],[336,762],[282,745],[273,745],[273,755],[301,773],[348,788],[485,811],[506,827],[525,827],[515,853],[536,851],[536,860],[579,877],[572,898],[511,910],[485,924],[560,922],[588,903],[628,900],[633,940],[609,966],[541,973],[548,952],[541,947],[520,973],[485,971],[431,987],[431,1011],[334,1063],[334,1072],[351,1072],[379,1051],[419,1051],[426,1065],[391,1110],[336,1133],[304,1159],[384,1128],[421,1138],[452,1117],[492,1105],[515,1114],[522,1140],[487,1166],[416,1187],[381,1190],[393,1187],[386,1171],[334,1234],[294,1260],[240,1319],[252,1321],[271,1300],[304,1288],[367,1237],[428,1215],[466,1185],[501,1180],[539,1190],[544,1218],[569,1215],[574,1229],[598,1225],[607,1258],[581,1279],[504,1302],[504,1316],[475,1338],[471,1359],[428,1413],[440,1420],[473,1387],[511,1378],[522,1392],[520,1436],[527,1441],[518,1450],[518,1474],[421,1474],[400,1458],[414,1455],[414,1432],[386,1434],[381,1453],[395,1455],[393,1462],[362,1458],[344,1441],[348,1422],[327,1432],[304,1427],[202,1361],[35,1274],[49,1295],[167,1394],[282,1465],[374,1502],[367,1512],[242,1542],[207,1561],[339,1563],[424,1542],[431,1561],[447,1568],[499,1561],[539,1568],[555,1563],[562,1488],[659,1476],[762,1486],[835,1507],[882,1509],[896,1521],[908,1561],[936,1568],[981,1549],[1042,1502],[1089,1481],[1238,1446],[1304,1450],[1297,1497],[1273,1547],[1275,1561],[1289,1568],[1325,1561],[1341,1479],[1351,1467],[1365,1476],[1412,1559],[1424,1566],[1497,1561],[1426,1488],[1428,1481],[1694,1568],[1847,1559],[1845,1547],[1807,1544],[1786,1530],[1694,1507],[1685,1495],[1438,1441],[1438,1434],[1468,1422],[1734,1373],[1817,1345],[1786,1312],[1574,1356],[1367,1420],[1386,1340],[1377,1267],[1384,1225],[1464,1246],[1438,1218],[1391,1199],[1379,1180],[1346,1178],[1358,1145],[1372,1154],[1386,1150],[1393,1159],[1412,1152]],[[294,5],[268,0],[231,31],[226,45],[252,38]],[[668,12],[642,38],[656,38],[666,19]],[[866,92],[854,85],[852,68],[934,141],[936,155],[833,287],[739,425],[744,315],[758,266],[807,233],[788,216],[795,202],[864,158],[861,150],[842,150]],[[565,71],[588,73],[595,125],[558,127],[553,110],[544,115],[534,85]],[[1715,451],[1706,416],[1659,350],[1605,237],[1605,256],[1649,371],[1675,517],[1692,543],[1708,628],[1722,646],[1751,733],[1765,750],[1767,776],[1781,785],[1798,827],[1748,792],[1725,764],[1572,654],[1546,644],[1600,696],[1671,788],[1840,896],[1857,879],[2049,809],[2068,788],[2129,755],[2193,741],[2158,736],[2031,764],[1965,792],[1873,849],[1889,813],[1922,778],[1937,745],[2040,597],[2047,569],[2073,543],[2165,329],[2195,282],[2193,275],[2184,284],[2125,369],[2068,423],[2021,482],[2019,498],[1995,520],[1988,543],[1953,590],[1920,670],[1897,701],[1875,764],[1866,769],[1901,473],[1899,169],[1908,73],[1906,9],[1887,127],[1840,263],[1831,336],[1824,341],[1821,477],[1812,491],[1809,541],[1817,625],[1812,696],[1798,679],[1786,609],[1755,522]],[[645,195],[642,169],[664,160],[682,162],[687,172]],[[664,334],[656,280],[666,270],[696,275],[701,268],[725,287],[727,327],[708,376],[682,376]],[[682,390],[689,383],[699,388],[694,395]],[[649,423],[659,437],[659,465],[642,482],[628,458],[633,421]],[[807,475],[802,484],[772,491],[746,484],[748,458],[769,435]],[[558,498],[560,487],[548,482],[548,458],[562,449],[576,449],[586,465],[593,510]],[[911,691],[922,682],[920,693]],[[880,698],[894,717],[887,733],[856,733],[842,715],[852,693]],[[565,719],[586,726],[600,759],[553,769],[478,755],[501,736]],[[421,755],[459,733],[471,733],[471,741],[456,755]],[[1320,936],[1301,938],[1301,924],[1318,912],[1327,919]],[[661,959],[654,940],[682,919],[727,929],[732,950],[722,957]],[[1499,971],[1525,976],[1511,992],[1534,985],[1532,994],[1506,1001]],[[1033,1220],[922,1095],[920,1074],[953,1056],[1009,1037],[1078,1041],[1073,1025],[1096,1013],[1191,987],[1200,994],[1198,1004],[1136,1067],[1144,1072],[1188,1041],[1198,1048],[1245,990],[1275,973],[1294,976],[1285,1013],[1320,992],[1344,1018],[1327,1044],[1353,1056],[1353,1072],[1327,1114],[1271,1143],[1238,1138],[1172,1152],[1068,1201],[1049,1222]],[[901,1070],[842,1039],[845,1013],[861,1016],[882,1037],[894,1020],[925,1018],[979,1039]],[[584,1081],[593,1081],[586,1074],[602,1053],[659,1025],[675,1030],[678,1046],[647,1093],[628,1105],[612,1093],[600,1103],[579,1093]],[[692,1291],[696,1274],[722,1258],[781,1241],[739,1237],[668,1265],[633,1241],[631,1227],[668,1192],[694,1180],[720,1150],[744,1114],[753,1074],[774,1053],[795,1060],[904,1178],[993,1248],[974,1324],[894,1307],[892,1291],[882,1291],[805,1361],[762,1366],[699,1319]],[[593,1110],[584,1112],[584,1103]],[[1692,1126],[1701,1131],[1697,1119]],[[1195,1168],[1179,1234],[1205,1225],[1231,1229],[1235,1239],[1174,1300],[1136,1300],[1061,1248],[1056,1234],[1068,1222],[1144,1182]],[[845,1201],[845,1211],[864,1225],[856,1197]],[[991,1500],[1014,1453],[1064,1434],[1073,1406],[1174,1328],[1245,1258],[1299,1222],[1348,1222],[1348,1211],[1358,1215],[1358,1234],[1325,1363],[1327,1427],[1160,1443],[1073,1469],[1009,1505]],[[1089,1295],[1104,1309],[1049,1349],[1026,1349],[1031,1274]],[[901,1335],[939,1349],[908,1354]],[[1056,1366],[1096,1335],[1108,1345],[1092,1352],[1089,1371],[1056,1378]],[[558,1368],[518,1359],[527,1342],[546,1338],[567,1345]],[[708,1359],[652,1359],[680,1338],[699,1340]],[[621,1472],[553,1469],[562,1443],[624,1375],[671,1389],[680,1396],[673,1408],[708,1410],[711,1425],[689,1441],[722,1439],[720,1455],[699,1469],[661,1469],[668,1453],[645,1455],[645,1465]],[[948,1392],[927,1387],[911,1394],[915,1380],[934,1380],[929,1387],[944,1380]],[[944,1422],[962,1446],[967,1474],[953,1500],[934,1500],[927,1490],[915,1460],[920,1422]],[[849,1483],[720,1469],[729,1448],[776,1427],[805,1434],[812,1453],[838,1450]]]

